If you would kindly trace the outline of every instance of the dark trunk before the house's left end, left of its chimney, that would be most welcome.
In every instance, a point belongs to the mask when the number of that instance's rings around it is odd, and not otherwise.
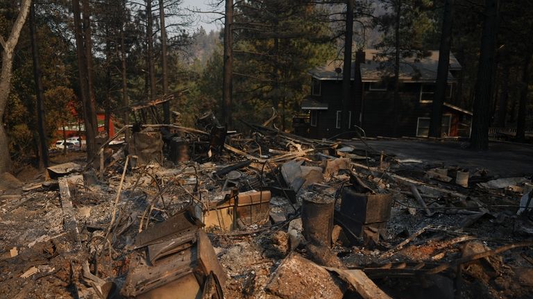
[[[353,0],[346,1],[346,28],[344,32],[344,64],[342,68],[342,113],[341,128],[348,130],[348,110],[352,100],[352,41],[353,41]]]

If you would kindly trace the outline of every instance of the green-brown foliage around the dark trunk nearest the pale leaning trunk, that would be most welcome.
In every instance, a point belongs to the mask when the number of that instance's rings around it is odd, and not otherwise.
[[[8,2],[8,1],[4,1]],[[10,1],[9,1],[10,2]],[[40,15],[37,17],[37,35],[40,40],[40,60],[42,68],[42,83],[44,89],[53,89],[58,86],[69,87],[71,72],[71,48],[67,42],[67,36],[59,34],[56,29],[59,20],[62,19],[62,6],[56,3],[51,6],[41,6]],[[49,10],[53,8],[53,10]],[[11,7],[11,10],[14,8]],[[53,13],[52,13],[53,12]],[[3,9],[0,13],[0,26],[2,30],[8,30],[8,19],[13,17],[9,9]],[[61,22],[62,22],[61,21]],[[24,158],[35,155],[37,144],[37,114],[35,108],[35,83],[33,77],[33,65],[28,25],[24,26],[17,45],[17,55],[13,64],[12,88],[10,100],[3,119],[6,130],[10,136],[10,152],[12,157]],[[64,108],[64,107],[63,107]],[[62,109],[56,101],[45,103],[45,110],[53,112]],[[54,142],[57,138],[56,124],[53,118],[48,119],[46,133],[49,141]]]

